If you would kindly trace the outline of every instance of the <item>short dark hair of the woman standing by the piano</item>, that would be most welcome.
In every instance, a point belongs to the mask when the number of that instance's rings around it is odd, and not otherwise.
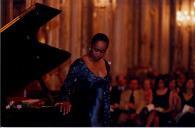
[[[94,45],[97,41],[103,41],[106,43],[107,47],[109,45],[109,39],[108,37],[103,33],[97,33],[93,36],[91,39],[91,45]]]

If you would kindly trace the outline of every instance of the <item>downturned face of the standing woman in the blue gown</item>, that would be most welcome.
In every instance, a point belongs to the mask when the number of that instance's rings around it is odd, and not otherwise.
[[[107,50],[106,42],[97,41],[91,47],[91,55],[94,60],[100,60],[102,57],[104,57],[106,50]]]

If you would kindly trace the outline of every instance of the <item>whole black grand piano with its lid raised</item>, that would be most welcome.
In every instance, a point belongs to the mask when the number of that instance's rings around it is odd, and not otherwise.
[[[39,28],[60,12],[37,3],[0,29],[1,126],[67,126],[67,117],[54,106],[42,76],[64,63],[71,54],[37,39]],[[16,108],[10,107],[14,101],[10,103],[8,99],[34,80],[39,81],[44,98],[51,102],[38,107],[22,106],[24,103],[19,102]]]

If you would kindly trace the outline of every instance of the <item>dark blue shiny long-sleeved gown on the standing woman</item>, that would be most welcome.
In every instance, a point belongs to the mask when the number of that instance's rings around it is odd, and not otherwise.
[[[62,100],[72,103],[71,123],[74,126],[109,126],[110,67],[102,78],[89,70],[79,58],[71,66],[61,89]]]

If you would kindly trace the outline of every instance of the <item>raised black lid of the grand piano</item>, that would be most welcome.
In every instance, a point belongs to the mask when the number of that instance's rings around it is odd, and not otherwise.
[[[3,96],[40,79],[70,57],[69,52],[40,43],[36,37],[39,28],[60,12],[35,4],[0,29]]]

